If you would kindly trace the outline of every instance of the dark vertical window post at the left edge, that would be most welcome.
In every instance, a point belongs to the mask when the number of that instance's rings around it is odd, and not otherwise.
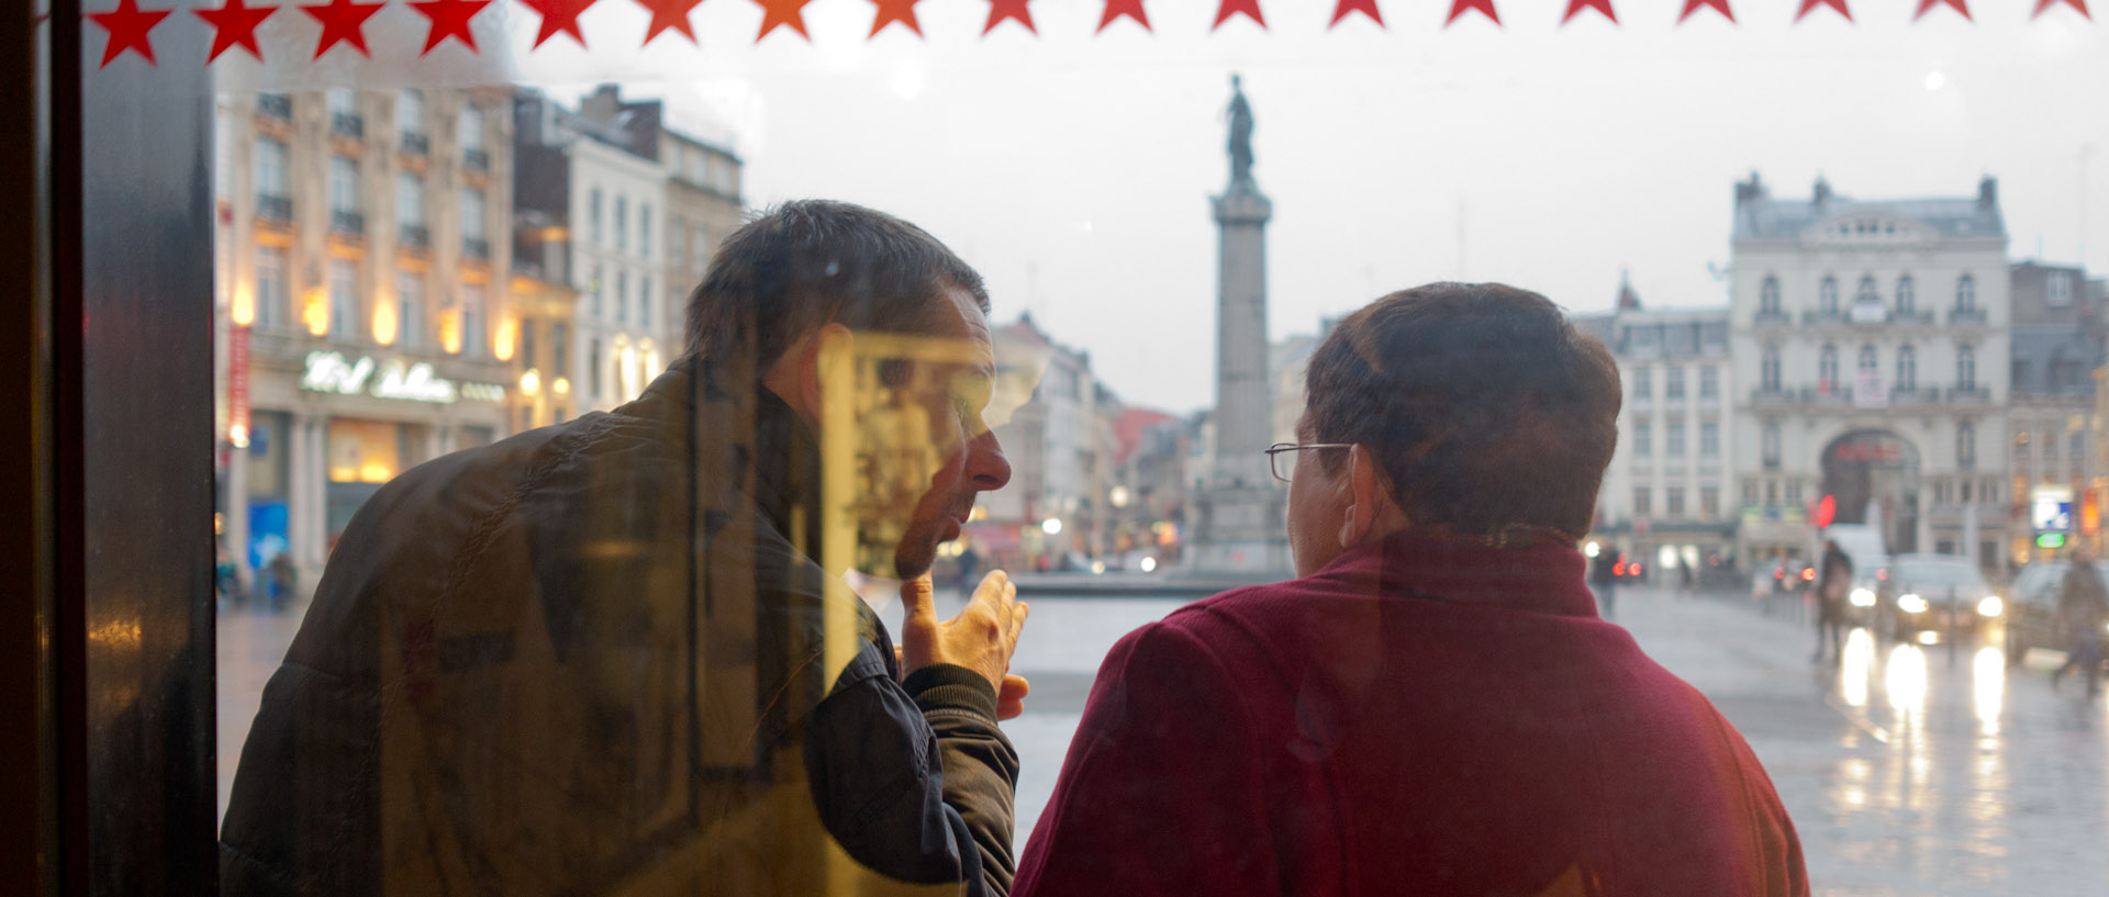
[[[51,13],[63,889],[211,895],[211,32],[103,65],[78,0]]]

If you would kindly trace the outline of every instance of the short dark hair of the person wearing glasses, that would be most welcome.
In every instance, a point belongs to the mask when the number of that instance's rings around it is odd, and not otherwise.
[[[1407,518],[1470,535],[1586,533],[1622,398],[1603,341],[1504,284],[1369,303],[1312,354],[1305,396],[1310,438],[1362,444]]]

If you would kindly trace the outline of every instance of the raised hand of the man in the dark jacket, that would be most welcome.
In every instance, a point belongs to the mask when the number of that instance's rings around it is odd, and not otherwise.
[[[901,583],[901,672],[911,674],[932,663],[957,663],[989,680],[995,689],[998,707],[1017,716],[1023,712],[1029,684],[1019,676],[1008,676],[1010,653],[1019,649],[1019,632],[1031,609],[1019,600],[1019,587],[1004,571],[989,571],[974,587],[974,596],[953,619],[936,619],[936,587],[930,575]],[[1014,682],[1012,682],[1014,680]]]

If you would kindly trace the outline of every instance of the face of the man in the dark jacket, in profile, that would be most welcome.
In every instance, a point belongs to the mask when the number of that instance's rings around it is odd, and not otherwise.
[[[945,288],[943,305],[928,354],[882,362],[863,421],[871,514],[860,514],[858,539],[873,562],[890,545],[901,579],[930,571],[939,543],[960,537],[974,495],[1010,482],[1010,463],[981,417],[995,383],[989,320],[960,288]]]

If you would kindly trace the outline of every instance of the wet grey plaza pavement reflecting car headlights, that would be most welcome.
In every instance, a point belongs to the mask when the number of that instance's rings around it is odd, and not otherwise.
[[[939,613],[957,606],[939,596]],[[875,602],[882,619],[898,606]],[[1033,598],[1012,663],[1031,678],[1010,720],[1023,760],[1019,842],[1038,821],[1105,651],[1181,600]],[[2084,699],[1997,649],[1894,644],[1856,632],[1843,663],[1814,632],[1742,598],[1618,596],[1618,621],[1704,691],[1772,773],[1818,895],[2098,893],[2109,882],[2109,699]],[[219,621],[221,806],[291,615]],[[1411,775],[1411,771],[1400,771]]]

